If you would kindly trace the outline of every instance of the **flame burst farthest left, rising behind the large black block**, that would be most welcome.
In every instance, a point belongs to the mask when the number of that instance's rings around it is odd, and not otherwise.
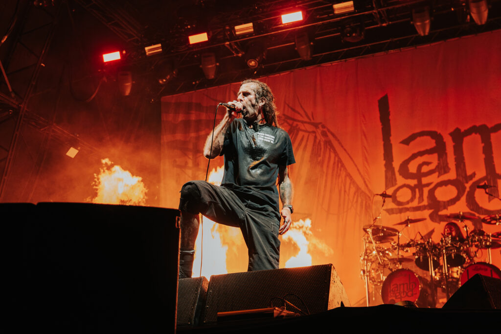
[[[103,167],[99,175],[94,174],[94,188],[97,195],[93,203],[144,205],[148,191],[142,178],[124,171],[119,165],[113,165],[110,159],[102,159]]]

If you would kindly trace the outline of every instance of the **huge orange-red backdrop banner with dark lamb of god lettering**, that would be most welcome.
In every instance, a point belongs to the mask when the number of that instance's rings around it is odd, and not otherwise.
[[[403,225],[394,224],[407,216],[424,218],[403,230],[402,242],[421,235],[438,242],[447,214],[501,213],[501,200],[476,188],[501,184],[500,59],[496,31],[261,78],[277,98],[279,123],[297,161],[290,175],[298,226],[282,239],[281,266],[301,252],[312,264],[333,263],[352,305],[364,305],[363,226],[376,221],[400,230]],[[162,206],[177,207],[183,183],[205,178],[202,147],[215,107],[233,100],[238,88],[162,98]],[[221,157],[210,163],[211,170],[223,165]],[[392,195],[384,207],[374,196],[383,191]],[[488,191],[499,197],[498,188]],[[466,225],[501,230],[479,219]],[[218,229],[228,248],[221,260],[227,270],[246,270],[238,234]],[[395,256],[389,243],[384,247]],[[475,260],[485,261],[486,254],[478,252]],[[403,255],[413,258],[412,251]],[[499,267],[499,249],[492,259]]]

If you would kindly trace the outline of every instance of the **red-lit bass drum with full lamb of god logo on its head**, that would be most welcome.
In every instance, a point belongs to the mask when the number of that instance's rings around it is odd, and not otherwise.
[[[424,278],[416,275],[410,269],[398,269],[386,277],[381,288],[381,297],[385,304],[395,304],[399,301],[412,301],[419,307],[433,307],[430,284]]]

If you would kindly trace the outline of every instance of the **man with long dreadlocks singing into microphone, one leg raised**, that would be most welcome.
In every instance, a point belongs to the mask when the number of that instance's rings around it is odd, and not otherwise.
[[[287,166],[296,161],[289,134],[278,127],[270,87],[257,80],[245,80],[236,100],[227,105],[234,110],[227,108],[203,148],[206,158],[224,155],[221,186],[190,181],[181,189],[179,278],[191,277],[199,213],[214,222],[240,228],[248,249],[249,271],[279,267],[278,235],[291,226],[293,188]],[[237,113],[242,117],[235,118]]]

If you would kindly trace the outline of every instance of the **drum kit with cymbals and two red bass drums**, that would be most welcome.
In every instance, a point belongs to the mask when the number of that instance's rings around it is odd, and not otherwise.
[[[474,229],[470,232],[465,221],[478,221],[479,218],[461,212],[445,217],[462,224],[466,237],[462,237],[460,232],[452,232],[452,229],[447,233],[448,225],[460,231],[458,224],[450,222],[446,224],[446,233],[442,234],[439,242],[431,240],[433,231],[424,236],[419,233],[420,238],[401,242],[402,232],[411,224],[424,221],[424,218],[407,217],[403,222],[394,224],[395,227],[375,223],[363,227],[364,251],[360,261],[362,278],[366,283],[367,306],[370,299],[379,297],[377,294],[380,291],[384,303],[412,301],[420,307],[436,307],[438,291],[445,293],[448,299],[477,273],[501,278],[501,271],[491,263],[491,250],[501,248],[501,231],[489,234],[483,229]],[[501,227],[501,216],[486,216],[481,222]],[[478,253],[484,250],[487,251],[486,262],[476,262]],[[403,253],[412,254],[412,257],[403,256]],[[414,265],[423,272],[418,274],[419,270],[406,268],[413,268]],[[372,298],[369,296],[369,284],[372,285]]]

